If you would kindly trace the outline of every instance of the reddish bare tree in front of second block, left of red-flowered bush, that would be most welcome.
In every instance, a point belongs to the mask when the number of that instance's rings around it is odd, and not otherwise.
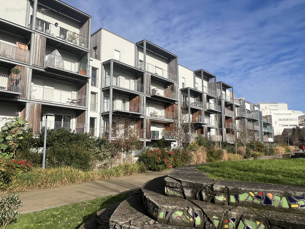
[[[120,150],[120,163],[126,160],[126,154],[129,151],[139,150],[142,148],[143,130],[138,129],[138,122],[130,116],[113,116],[112,125],[107,126],[107,133],[111,136],[111,143]]]

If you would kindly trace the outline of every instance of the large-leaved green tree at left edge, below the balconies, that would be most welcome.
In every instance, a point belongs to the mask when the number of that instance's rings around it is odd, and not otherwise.
[[[11,118],[0,132],[0,155],[2,158],[15,158],[17,148],[23,144],[24,135],[28,135],[30,125],[24,118]]]

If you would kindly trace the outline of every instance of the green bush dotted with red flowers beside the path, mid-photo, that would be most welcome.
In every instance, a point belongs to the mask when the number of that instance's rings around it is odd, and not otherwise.
[[[191,154],[186,150],[148,149],[139,155],[139,161],[143,162],[146,169],[160,171],[188,165]]]

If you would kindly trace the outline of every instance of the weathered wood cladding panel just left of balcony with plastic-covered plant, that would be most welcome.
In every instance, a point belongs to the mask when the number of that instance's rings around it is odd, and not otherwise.
[[[46,37],[35,34],[34,38],[34,56],[33,56],[33,65],[45,66],[45,42]]]

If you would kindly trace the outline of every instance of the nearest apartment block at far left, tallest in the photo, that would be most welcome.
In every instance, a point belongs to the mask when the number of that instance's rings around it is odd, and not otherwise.
[[[26,117],[34,132],[47,126],[84,133],[91,16],[58,0],[14,0],[2,6],[0,117]],[[20,73],[11,72],[13,67]],[[54,114],[48,123],[46,113]]]

